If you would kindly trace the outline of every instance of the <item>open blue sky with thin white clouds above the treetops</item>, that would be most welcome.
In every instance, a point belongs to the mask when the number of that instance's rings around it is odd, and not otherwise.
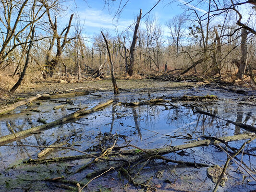
[[[83,36],[89,37],[87,40],[90,41],[90,37],[100,34],[100,30],[108,30],[110,34],[115,34],[116,20],[113,20],[113,18],[118,10],[120,1],[122,1],[122,7],[127,0],[110,0],[110,8],[108,5],[104,7],[104,0],[70,0],[67,3],[70,13],[75,12],[79,15],[81,24],[84,24]],[[176,2],[170,3],[171,1],[172,0],[161,0],[150,12],[151,15],[157,18],[158,24],[161,24],[161,29],[165,35],[170,33],[170,30],[165,24],[173,16],[181,14],[186,8],[194,8],[199,13],[206,13],[205,10],[207,10],[208,6],[208,0],[203,1],[205,8],[198,7],[198,5],[196,5],[197,1],[190,2],[187,5],[184,5],[185,0],[176,0]],[[140,9],[142,9],[142,15],[144,15],[151,10],[157,2],[158,0],[128,0],[118,20],[119,34],[134,23],[134,18],[136,18]],[[196,5],[196,7],[193,4]],[[251,10],[251,8],[243,8],[243,6],[240,8],[241,13],[244,12],[245,20],[243,20],[246,21],[248,18],[246,12]],[[67,17],[69,17],[69,14],[67,14]],[[68,19],[65,18],[64,20]],[[216,17],[215,20],[218,20],[218,18]],[[143,27],[144,21],[145,20],[142,19],[141,27]]]

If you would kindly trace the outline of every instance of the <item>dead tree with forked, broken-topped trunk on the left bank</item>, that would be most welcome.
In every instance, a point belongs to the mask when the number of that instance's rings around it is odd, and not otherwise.
[[[63,48],[64,48],[65,44],[68,42],[67,36],[68,36],[69,30],[70,30],[70,27],[71,27],[71,22],[72,22],[74,14],[70,15],[68,26],[65,27],[62,30],[61,35],[59,35],[58,31],[57,31],[57,29],[58,29],[58,27],[57,27],[57,17],[55,17],[55,22],[53,24],[53,22],[51,20],[51,17],[50,17],[49,6],[46,5],[46,4],[44,6],[45,6],[46,11],[47,11],[47,15],[48,15],[48,19],[49,19],[51,29],[53,31],[53,37],[51,39],[50,47],[49,47],[49,50],[48,50],[48,53],[47,53],[47,56],[46,56],[45,73],[43,75],[43,77],[46,78],[47,76],[52,77],[53,72],[54,72],[54,70],[55,70],[55,68],[58,64],[58,61],[61,58]],[[63,41],[62,41],[62,44],[61,44],[61,37],[64,33],[65,33],[65,35],[63,37]],[[55,39],[57,39],[57,51],[56,51],[55,57],[50,60],[50,54],[51,54],[51,51],[53,49]]]

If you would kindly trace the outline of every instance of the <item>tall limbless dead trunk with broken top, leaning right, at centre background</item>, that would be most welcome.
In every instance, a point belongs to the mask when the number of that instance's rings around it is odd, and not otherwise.
[[[142,15],[142,9],[140,10],[140,14],[137,16],[137,22],[134,28],[134,37],[133,37],[132,45],[130,48],[130,63],[128,66],[128,71],[126,71],[126,73],[128,73],[129,76],[133,76],[133,73],[134,73],[134,50],[135,50],[136,41],[138,39],[137,32],[140,25],[141,15]]]

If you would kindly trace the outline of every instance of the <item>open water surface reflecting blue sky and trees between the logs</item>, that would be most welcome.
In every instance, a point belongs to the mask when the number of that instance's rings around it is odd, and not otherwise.
[[[129,101],[130,97],[125,100]],[[91,101],[84,101],[83,97],[77,98],[75,102],[90,103],[96,105]],[[226,105],[227,104],[227,105]],[[127,143],[134,144],[141,148],[160,148],[171,144],[172,146],[184,144],[191,141],[189,137],[172,137],[166,139],[162,134],[171,136],[188,136],[191,135],[193,139],[200,140],[202,135],[210,135],[215,137],[233,135],[244,133],[245,131],[238,126],[227,124],[226,121],[219,120],[212,116],[205,114],[194,113],[191,108],[182,106],[182,103],[177,103],[180,108],[171,108],[170,106],[139,106],[139,107],[124,107],[122,105],[109,106],[101,111],[81,117],[75,121],[61,124],[57,127],[49,129],[42,134],[34,134],[30,137],[16,141],[16,144],[34,144],[44,145],[51,144],[58,138],[64,135],[74,134],[71,144],[79,150],[95,149],[94,146],[98,145],[99,135],[104,133],[117,133],[120,139],[117,142],[118,146],[126,145]],[[37,126],[39,123],[37,119],[48,118],[48,122],[58,119],[59,117],[70,113],[67,110],[53,111],[53,106],[49,104],[48,108],[39,108],[46,113],[31,113],[30,116],[18,116],[12,120],[0,120],[0,134],[10,134],[12,130],[8,128],[7,123],[10,123],[15,132],[28,129],[29,127]],[[203,110],[211,114],[216,114],[224,119],[233,120],[236,122],[243,122],[245,124],[254,125],[255,111],[251,108],[246,108],[243,105],[236,103],[229,103],[223,101],[221,104],[208,105],[202,107]],[[243,108],[243,110],[242,110]],[[238,110],[239,109],[239,110]],[[56,112],[56,113],[55,113]],[[76,132],[73,133],[72,130]],[[122,139],[125,138],[125,139]],[[238,145],[240,143],[238,142]],[[255,144],[251,144],[254,147]],[[13,162],[13,159],[24,159],[27,157],[35,157],[38,149],[29,147],[1,147],[0,158],[4,159],[3,165],[6,167]],[[195,148],[193,150],[186,150],[184,156],[180,154],[172,154],[174,159],[184,158],[187,161],[205,160],[210,163],[217,162],[222,165],[226,160],[226,154],[221,156],[215,148]],[[47,157],[51,156],[72,156],[78,155],[73,151],[54,151]],[[244,157],[245,158],[245,157]],[[221,161],[220,161],[221,160]],[[245,158],[244,161],[247,159]],[[154,165],[155,166],[155,165]]]

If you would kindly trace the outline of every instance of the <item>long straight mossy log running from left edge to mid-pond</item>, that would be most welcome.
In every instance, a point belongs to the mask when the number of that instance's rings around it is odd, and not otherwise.
[[[17,140],[19,138],[23,138],[23,137],[29,136],[29,135],[31,135],[33,133],[41,132],[41,131],[47,130],[49,128],[55,127],[55,126],[57,126],[57,125],[59,125],[61,123],[64,123],[64,122],[68,121],[68,120],[73,120],[73,119],[75,119],[78,116],[82,116],[82,115],[87,115],[89,113],[93,113],[93,112],[97,111],[100,108],[104,108],[104,107],[108,106],[113,101],[114,100],[109,100],[106,103],[99,104],[99,105],[95,106],[94,108],[87,109],[87,110],[85,110],[85,108],[83,108],[81,110],[78,110],[78,111],[76,111],[74,113],[66,115],[66,116],[64,116],[64,117],[62,117],[62,118],[60,118],[58,120],[52,121],[50,123],[43,124],[43,125],[40,125],[40,126],[37,126],[37,127],[32,127],[30,129],[27,129],[27,130],[24,130],[24,131],[21,131],[21,132],[16,132],[15,135],[14,134],[10,134],[10,135],[2,136],[2,137],[0,137],[0,144],[2,144],[2,143],[9,143],[9,142],[15,141],[15,140]]]

